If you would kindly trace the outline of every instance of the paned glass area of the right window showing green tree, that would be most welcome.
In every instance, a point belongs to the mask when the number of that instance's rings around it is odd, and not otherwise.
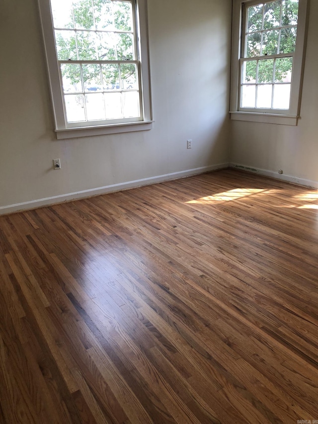
[[[241,107],[289,108],[298,12],[299,0],[246,6]]]

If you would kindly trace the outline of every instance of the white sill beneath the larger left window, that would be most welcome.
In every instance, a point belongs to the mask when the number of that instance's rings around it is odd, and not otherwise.
[[[104,134],[117,134],[117,133],[128,133],[133,131],[147,131],[153,128],[154,121],[141,121],[141,122],[130,122],[127,124],[116,124],[116,125],[103,125],[94,127],[76,127],[76,128],[64,128],[57,129],[56,138],[68,139],[68,138],[79,138],[79,137],[92,137],[96,135]]]

